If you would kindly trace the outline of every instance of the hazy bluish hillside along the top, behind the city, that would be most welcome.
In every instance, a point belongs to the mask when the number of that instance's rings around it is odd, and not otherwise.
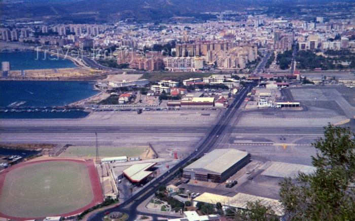
[[[121,19],[136,22],[163,22],[172,17],[195,17],[207,20],[216,16],[200,13],[225,10],[242,12],[261,7],[265,11],[273,8],[277,12],[297,5],[307,7],[315,4],[324,5],[327,2],[330,0],[27,0],[21,3],[4,0],[0,7],[2,20],[23,18],[47,20],[52,23],[80,24],[110,23]]]

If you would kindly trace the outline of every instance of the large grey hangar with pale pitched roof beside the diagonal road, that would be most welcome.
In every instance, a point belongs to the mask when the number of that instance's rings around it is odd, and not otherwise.
[[[250,154],[235,149],[216,149],[184,168],[184,178],[223,183],[250,162]]]

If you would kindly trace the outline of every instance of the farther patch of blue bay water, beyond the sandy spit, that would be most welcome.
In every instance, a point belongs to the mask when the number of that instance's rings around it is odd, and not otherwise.
[[[0,61],[10,62],[10,70],[33,70],[77,67],[73,61],[37,52],[0,53]]]

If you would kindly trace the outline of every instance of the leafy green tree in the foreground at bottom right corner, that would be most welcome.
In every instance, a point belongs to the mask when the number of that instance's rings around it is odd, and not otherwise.
[[[355,220],[355,134],[329,124],[324,135],[312,144],[316,171],[280,182],[287,220]]]

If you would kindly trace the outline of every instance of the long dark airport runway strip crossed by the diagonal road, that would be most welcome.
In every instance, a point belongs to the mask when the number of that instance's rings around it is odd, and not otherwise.
[[[210,126],[1,126],[0,135],[203,135]],[[323,135],[322,126],[231,126],[227,134]]]

